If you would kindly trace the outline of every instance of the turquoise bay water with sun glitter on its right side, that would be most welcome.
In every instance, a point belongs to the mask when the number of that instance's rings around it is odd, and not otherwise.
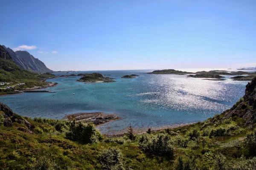
[[[103,125],[103,133],[134,127],[155,127],[203,121],[231,108],[244,95],[247,82],[210,81],[186,75],[152,75],[148,71],[81,71],[111,74],[111,83],[76,82],[80,77],[49,79],[57,93],[0,96],[0,102],[22,116],[61,119],[65,114],[101,111],[122,120]],[[63,75],[67,73],[56,73]],[[135,79],[121,79],[139,74]],[[73,95],[75,93],[75,95]]]

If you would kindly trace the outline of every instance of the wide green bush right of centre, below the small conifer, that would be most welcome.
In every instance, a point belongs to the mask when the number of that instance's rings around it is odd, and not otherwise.
[[[143,134],[140,139],[139,147],[150,155],[166,156],[170,159],[174,156],[174,149],[170,143],[168,134],[160,133],[156,136]]]

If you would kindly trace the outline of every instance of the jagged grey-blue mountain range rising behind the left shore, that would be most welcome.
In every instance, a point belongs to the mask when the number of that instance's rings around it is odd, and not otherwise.
[[[5,54],[5,51],[7,51],[9,55]],[[26,70],[33,71],[36,73],[52,72],[52,70],[46,67],[44,62],[29,54],[28,51],[14,52],[11,48],[6,48],[6,46],[0,45],[0,52],[2,53],[2,57],[6,57],[4,59],[10,59],[10,56],[11,59],[14,60],[17,65]]]

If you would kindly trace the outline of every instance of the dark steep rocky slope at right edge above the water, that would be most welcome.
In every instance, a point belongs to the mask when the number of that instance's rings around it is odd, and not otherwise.
[[[240,117],[246,122],[246,125],[256,123],[256,77],[246,85],[245,95],[231,109],[221,113],[222,120],[230,117]],[[213,121],[215,119],[213,118]]]

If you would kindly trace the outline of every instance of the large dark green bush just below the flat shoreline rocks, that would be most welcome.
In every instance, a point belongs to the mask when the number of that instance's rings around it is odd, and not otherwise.
[[[102,141],[103,136],[95,129],[93,123],[84,124],[75,120],[70,124],[70,132],[66,133],[66,138],[80,143],[96,143]]]

